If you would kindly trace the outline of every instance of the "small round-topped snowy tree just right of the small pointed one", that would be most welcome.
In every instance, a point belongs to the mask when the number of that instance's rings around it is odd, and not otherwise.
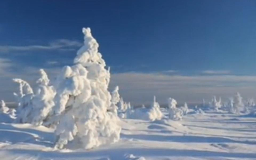
[[[168,98],[168,107],[169,107],[169,118],[171,120],[181,120],[182,111],[179,108],[176,108],[177,101],[173,98]]]

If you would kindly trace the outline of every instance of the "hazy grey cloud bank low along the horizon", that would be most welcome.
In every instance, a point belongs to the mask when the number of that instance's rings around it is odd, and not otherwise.
[[[13,92],[18,90],[18,85],[12,82],[12,78],[22,78],[33,86],[38,78],[37,67],[23,66],[19,72],[12,72],[10,68],[14,65],[8,59],[0,59],[0,99],[14,101]],[[57,62],[49,62],[57,63]],[[60,72],[61,67],[45,69],[51,80]],[[203,71],[202,71],[203,72]],[[175,71],[180,74],[181,72]],[[217,73],[217,71],[216,71]],[[223,73],[220,71],[219,73]],[[236,75],[177,75],[166,74],[166,72],[153,73],[113,73],[111,75],[109,90],[119,86],[120,94],[125,101],[133,104],[149,104],[153,96],[157,97],[159,103],[164,104],[168,97],[173,97],[178,102],[200,103],[203,98],[210,100],[214,95],[221,96],[224,100],[233,96],[237,91],[244,98],[254,98],[256,95],[256,76]]]

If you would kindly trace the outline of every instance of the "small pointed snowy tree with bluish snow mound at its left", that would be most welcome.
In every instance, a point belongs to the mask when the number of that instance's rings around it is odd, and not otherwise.
[[[163,117],[163,113],[160,110],[160,105],[156,101],[156,97],[154,96],[154,101],[151,104],[150,108],[141,107],[134,110],[132,113],[132,118],[154,121],[160,120]]]

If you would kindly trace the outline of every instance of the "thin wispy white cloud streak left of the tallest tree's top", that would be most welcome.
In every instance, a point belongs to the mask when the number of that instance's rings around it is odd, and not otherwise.
[[[36,51],[36,50],[61,50],[69,51],[76,50],[77,47],[82,46],[82,43],[76,40],[58,39],[50,42],[48,45],[28,45],[28,46],[0,46],[0,52],[11,51]]]

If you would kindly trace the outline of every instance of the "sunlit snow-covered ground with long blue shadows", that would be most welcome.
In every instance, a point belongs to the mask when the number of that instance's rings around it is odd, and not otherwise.
[[[122,119],[119,142],[95,149],[53,149],[53,130],[0,124],[1,160],[256,159],[256,117],[208,112],[183,120]]]

